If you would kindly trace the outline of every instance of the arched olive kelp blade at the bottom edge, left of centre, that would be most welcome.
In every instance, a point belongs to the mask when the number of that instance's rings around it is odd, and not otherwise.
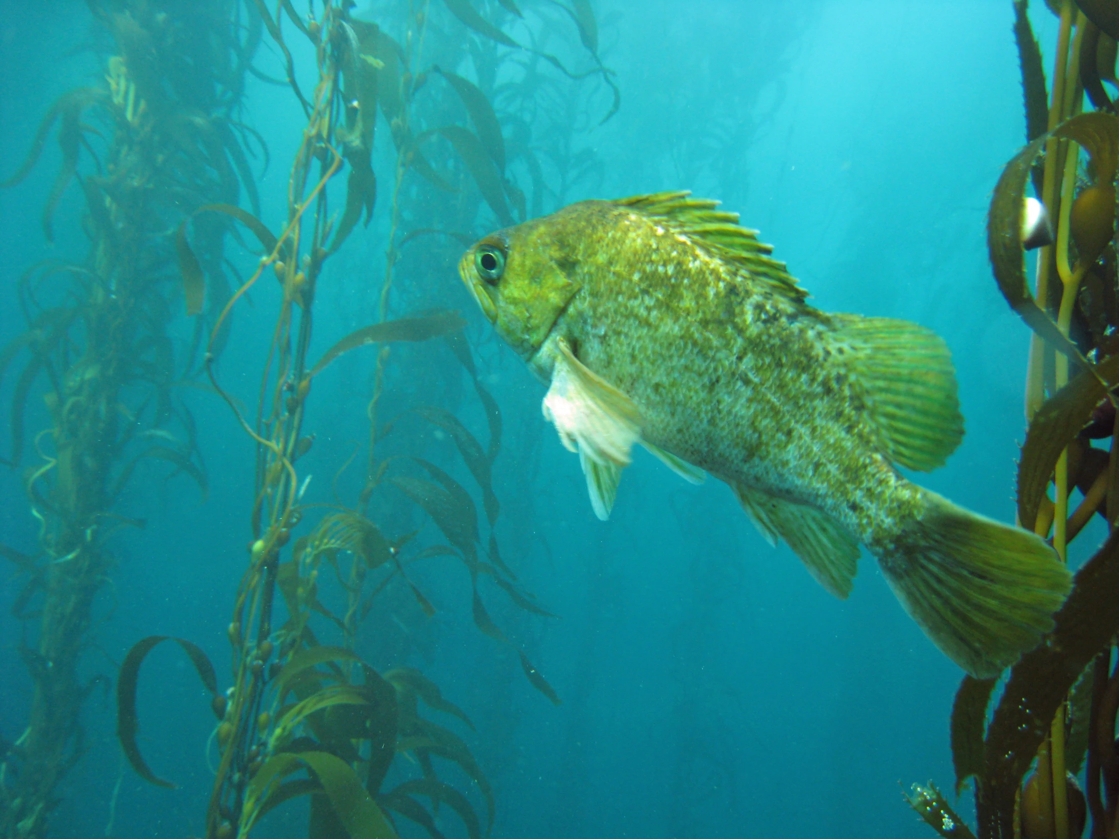
[[[344,760],[329,752],[284,752],[265,761],[246,790],[244,820],[248,827],[272,809],[269,799],[283,789],[276,782],[302,767],[314,775],[351,839],[396,839],[396,831],[366,792],[357,773]],[[300,790],[297,794],[302,792]],[[286,798],[293,795],[289,794]]]

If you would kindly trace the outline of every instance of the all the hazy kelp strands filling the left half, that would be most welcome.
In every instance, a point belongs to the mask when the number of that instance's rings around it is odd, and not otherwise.
[[[405,820],[439,837],[441,808],[468,836],[482,836],[495,799],[454,732],[471,728],[469,717],[419,669],[386,667],[360,649],[360,628],[370,615],[401,620],[394,613],[405,606],[433,615],[413,569],[459,563],[467,575],[454,607],[510,647],[526,684],[558,703],[486,603],[500,596],[549,613],[501,557],[491,469],[502,414],[479,378],[466,322],[440,307],[438,290],[398,275],[408,251],[431,260],[468,243],[463,232],[481,202],[513,224],[554,201],[529,126],[510,115],[579,95],[568,88],[585,79],[606,89],[593,119],[612,116],[620,91],[599,60],[594,15],[585,2],[545,6],[523,23],[520,44],[462,0],[396,4],[376,21],[332,0],[309,12],[290,0],[88,6],[103,78],[49,107],[4,183],[18,185],[55,139],[62,160],[41,210],[44,234],[54,236],[60,205],[79,201],[88,253],[26,268],[16,292],[27,331],[0,356],[0,371],[16,380],[6,459],[22,470],[39,528],[37,545],[2,548],[19,572],[15,613],[35,686],[26,727],[4,743],[3,836],[51,832],[63,780],[83,758],[82,706],[104,680],[83,678],[94,604],[116,573],[117,535],[154,526],[130,518],[122,498],[144,481],[192,482],[205,496],[215,479],[206,430],[194,418],[199,393],[225,403],[256,452],[244,574],[228,593],[229,667],[213,662],[225,658],[214,639],[137,639],[112,679],[132,770],[175,785],[141,748],[137,704],[145,657],[170,641],[213,695],[206,836],[248,836],[297,796],[309,796],[311,836],[392,837]],[[524,20],[511,1],[499,13]],[[543,28],[581,45],[577,69],[534,46]],[[280,56],[283,75],[256,66],[265,49]],[[464,65],[477,82],[452,69]],[[245,121],[251,78],[284,88],[303,113],[291,160],[272,157]],[[379,172],[378,114],[394,162]],[[262,166],[285,168],[283,206],[262,207]],[[424,201],[430,194],[440,196],[439,213]],[[376,317],[317,349],[325,266],[364,234],[378,200],[391,207],[375,248],[384,258]],[[270,298],[275,312],[256,338],[233,327],[253,296]],[[189,341],[173,326],[184,315]],[[395,349],[424,341],[441,345],[441,369],[417,373]],[[223,357],[238,343],[262,359],[256,386],[223,375]],[[360,406],[366,439],[333,464],[330,500],[312,501],[301,460],[317,436],[308,421],[314,384],[355,350],[374,370]],[[469,397],[455,393],[459,369]],[[32,397],[47,406],[41,427],[28,418]],[[449,407],[468,400],[483,420],[480,433]],[[453,442],[472,483],[421,456],[417,430],[429,428]],[[420,527],[423,517],[434,529]]]

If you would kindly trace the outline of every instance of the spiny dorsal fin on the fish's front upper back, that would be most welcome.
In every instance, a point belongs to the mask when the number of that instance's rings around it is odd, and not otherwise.
[[[765,283],[793,303],[802,303],[808,292],[786,271],[783,262],[771,260],[772,245],[758,241],[758,230],[739,224],[737,213],[716,209],[718,201],[692,198],[692,194],[653,192],[613,201],[651,218],[662,219],[712,255],[725,260]]]

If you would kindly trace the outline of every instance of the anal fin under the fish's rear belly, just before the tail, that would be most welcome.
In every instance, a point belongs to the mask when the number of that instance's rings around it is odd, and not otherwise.
[[[743,509],[771,545],[784,539],[817,582],[846,600],[858,569],[858,540],[822,510],[735,487]]]

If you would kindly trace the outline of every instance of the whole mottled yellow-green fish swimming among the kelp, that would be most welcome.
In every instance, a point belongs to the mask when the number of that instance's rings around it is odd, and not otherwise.
[[[1068,568],[1040,536],[899,471],[942,465],[963,437],[944,341],[815,309],[772,249],[717,201],[671,191],[497,230],[459,273],[547,385],[544,416],[600,519],[641,445],[688,481],[727,483],[837,597],[865,546],[942,652],[997,676],[1053,629]]]

